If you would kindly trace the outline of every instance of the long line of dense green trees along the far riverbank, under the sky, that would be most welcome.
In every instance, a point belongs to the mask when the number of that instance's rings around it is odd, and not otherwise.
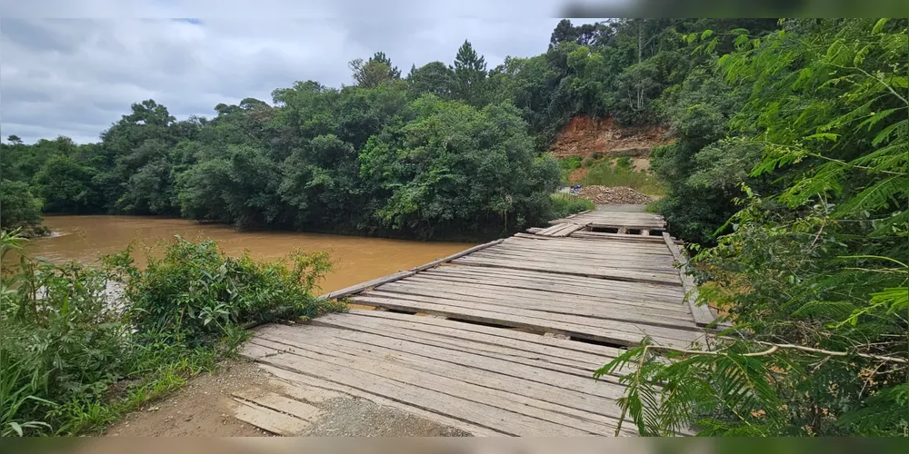
[[[271,104],[218,104],[214,118],[177,121],[146,100],[99,143],[11,137],[0,145],[0,174],[27,183],[45,212],[495,235],[551,217],[559,173],[540,153],[569,118],[658,122],[664,88],[710,58],[692,57],[682,34],[744,25],[768,30],[774,21],[564,20],[544,54],[489,68],[465,41],[453,64],[413,67],[405,77],[379,52],[350,62],[354,85],[298,82],[276,89]],[[726,41],[718,49],[731,50]]]

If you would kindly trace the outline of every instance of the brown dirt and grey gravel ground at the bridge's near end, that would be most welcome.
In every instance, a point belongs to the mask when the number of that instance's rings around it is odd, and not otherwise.
[[[227,360],[164,400],[149,403],[109,427],[113,437],[262,437],[269,432],[234,417],[232,393],[268,390],[275,378],[249,360]],[[323,410],[301,436],[463,437],[468,434],[368,400],[336,394],[314,402]]]

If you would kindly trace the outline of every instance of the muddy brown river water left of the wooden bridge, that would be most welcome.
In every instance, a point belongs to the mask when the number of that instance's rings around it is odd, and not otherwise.
[[[235,232],[230,226],[199,224],[183,219],[146,216],[46,216],[51,237],[29,242],[26,251],[52,262],[95,262],[100,254],[122,251],[134,244],[137,265],[145,266],[144,246],[181,235],[186,240],[214,240],[230,255],[245,250],[256,260],[279,260],[294,249],[325,251],[334,271],[321,282],[321,292],[335,291],[363,281],[413,268],[463,251],[465,242],[416,242],[299,232]]]

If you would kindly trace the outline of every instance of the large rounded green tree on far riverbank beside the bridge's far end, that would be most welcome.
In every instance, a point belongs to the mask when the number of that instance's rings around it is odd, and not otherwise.
[[[400,130],[366,143],[362,173],[388,196],[376,215],[389,228],[426,238],[450,232],[500,232],[539,222],[558,171],[535,159],[514,106],[482,111],[425,95]]]

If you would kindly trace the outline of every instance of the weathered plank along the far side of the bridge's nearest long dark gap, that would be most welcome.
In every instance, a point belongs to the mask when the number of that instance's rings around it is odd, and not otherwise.
[[[405,296],[405,295],[402,295]],[[572,337],[603,341],[615,345],[635,346],[645,335],[654,341],[678,348],[699,339],[694,331],[670,330],[629,322],[585,319],[584,317],[554,314],[551,312],[526,311],[512,309],[503,311],[495,306],[476,304],[467,301],[432,299],[419,296],[401,298],[380,298],[356,296],[358,304],[382,306],[398,311],[423,312],[443,315],[457,320],[479,321],[515,328],[528,328],[536,331],[553,331]]]

